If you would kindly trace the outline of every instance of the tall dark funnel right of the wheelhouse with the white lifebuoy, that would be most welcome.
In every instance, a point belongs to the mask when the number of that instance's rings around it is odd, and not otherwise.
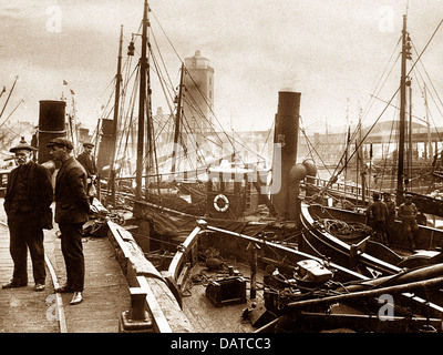
[[[297,162],[300,92],[279,91],[274,133],[271,201],[281,219],[293,216],[290,170]],[[292,199],[291,199],[292,200]]]

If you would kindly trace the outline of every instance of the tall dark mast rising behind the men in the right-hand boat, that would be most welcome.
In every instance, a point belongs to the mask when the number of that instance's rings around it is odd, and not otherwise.
[[[406,105],[406,16],[403,16],[402,57],[400,79],[400,128],[399,128],[399,163],[396,171],[396,205],[403,201],[403,171],[404,171],[404,118]]]

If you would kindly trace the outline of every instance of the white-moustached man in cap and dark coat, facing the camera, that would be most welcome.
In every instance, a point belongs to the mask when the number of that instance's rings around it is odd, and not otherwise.
[[[4,195],[8,215],[10,253],[14,263],[12,280],[3,288],[28,284],[28,248],[32,260],[35,291],[43,291],[45,283],[43,219],[51,209],[53,190],[49,171],[32,161],[37,149],[24,140],[11,148],[18,168],[11,171]],[[45,226],[47,227],[47,226]]]

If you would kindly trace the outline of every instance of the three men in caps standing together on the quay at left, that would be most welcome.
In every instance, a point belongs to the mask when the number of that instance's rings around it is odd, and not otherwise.
[[[54,221],[61,232],[61,250],[66,267],[66,284],[55,292],[73,293],[70,304],[83,301],[84,255],[82,246],[83,224],[90,213],[89,183],[96,173],[91,156],[92,143],[85,143],[85,152],[73,155],[73,144],[66,138],[55,138],[47,145],[58,164],[55,185],[50,171],[35,163],[35,148],[20,142],[14,153],[17,168],[11,171],[4,195],[4,211],[10,232],[10,254],[14,263],[12,280],[2,288],[22,287],[28,284],[28,248],[31,254],[34,290],[45,288],[43,229],[52,229],[51,204],[55,201]]]

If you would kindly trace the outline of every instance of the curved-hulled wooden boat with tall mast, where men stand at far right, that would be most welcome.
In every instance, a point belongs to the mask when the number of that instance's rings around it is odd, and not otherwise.
[[[368,189],[364,183],[359,185],[346,185],[337,182],[337,175],[329,181],[321,182],[311,178],[310,182],[305,182],[303,186],[307,193],[306,205],[303,211],[303,221],[308,221],[308,225],[312,223],[319,227],[316,233],[310,233],[308,240],[312,247],[338,257],[344,265],[354,264],[356,260],[363,262],[367,266],[374,267],[379,272],[395,273],[396,266],[414,267],[425,265],[427,263],[440,262],[441,248],[443,246],[441,240],[441,230],[430,226],[429,221],[435,221],[435,216],[440,215],[442,206],[441,200],[435,196],[427,196],[422,193],[412,192],[409,180],[411,174],[408,172],[405,164],[405,115],[406,115],[406,89],[409,88],[410,78],[406,74],[406,61],[411,59],[411,43],[406,31],[406,17],[403,18],[402,30],[402,55],[401,55],[401,82],[398,92],[400,92],[400,142],[398,148],[398,166],[396,166],[396,204],[404,202],[404,195],[411,194],[413,202],[416,204],[420,213],[418,216],[419,231],[416,232],[416,245],[414,251],[410,251],[411,244],[406,239],[406,233],[400,221],[395,221],[390,227],[390,245],[383,245],[371,237],[372,231],[367,226],[365,209],[370,203],[373,194],[380,196],[387,190]],[[411,69],[412,70],[412,69]],[[393,97],[394,98],[394,97]],[[391,100],[392,101],[392,100]],[[411,122],[410,122],[411,123]],[[411,124],[410,131],[411,133]],[[364,134],[368,136],[369,131]],[[362,144],[362,143],[361,143]],[[358,153],[358,149],[356,152]],[[409,149],[411,152],[411,148]],[[346,152],[343,156],[348,155]],[[409,158],[411,158],[409,155]],[[349,161],[347,159],[347,161]],[[346,164],[341,171],[346,169]],[[409,176],[409,178],[408,178]],[[364,178],[364,176],[363,176]],[[364,179],[362,179],[364,182]],[[313,183],[312,183],[313,181]],[[328,201],[328,196],[330,200]],[[339,203],[333,203],[332,200]],[[433,216],[432,216],[432,215]],[[309,216],[310,215],[310,216]],[[356,226],[360,231],[356,233]],[[312,229],[313,230],[313,229]],[[321,231],[320,231],[321,230]],[[333,230],[333,232],[332,232]],[[371,260],[367,258],[370,256]],[[373,257],[377,258],[374,262]],[[334,258],[333,258],[334,260]],[[384,263],[394,265],[391,271],[385,268]]]

